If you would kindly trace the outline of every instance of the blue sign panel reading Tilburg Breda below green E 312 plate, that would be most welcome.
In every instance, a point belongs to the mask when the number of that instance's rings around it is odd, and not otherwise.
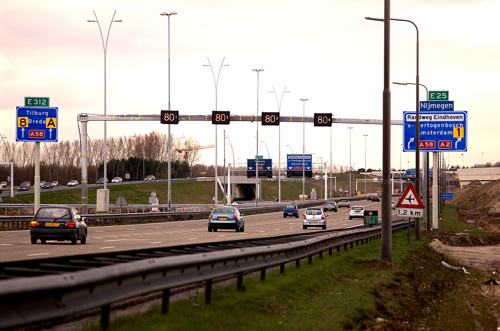
[[[57,141],[57,107],[15,107],[15,141]]]

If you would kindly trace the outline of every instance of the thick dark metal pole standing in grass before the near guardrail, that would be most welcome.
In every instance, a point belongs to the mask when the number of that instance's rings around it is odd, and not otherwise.
[[[390,17],[390,0],[384,0],[384,17]],[[390,185],[390,19],[384,20],[382,94],[382,234],[381,259],[392,261],[392,225]]]

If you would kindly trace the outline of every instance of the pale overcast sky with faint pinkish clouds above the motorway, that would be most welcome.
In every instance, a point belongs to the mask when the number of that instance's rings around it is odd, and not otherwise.
[[[0,2],[0,133],[14,138],[15,106],[24,96],[49,96],[59,107],[59,140],[77,139],[78,113],[103,113],[103,49],[95,10],[104,37],[111,16],[107,50],[107,114],[159,114],[168,107],[167,18],[170,19],[171,108],[180,114],[210,114],[215,91],[207,57],[218,71],[217,108],[231,114],[255,114],[259,74],[259,112],[282,115],[332,112],[337,118],[382,118],[382,0],[222,0],[222,1],[28,1]],[[449,90],[455,110],[468,111],[465,166],[500,160],[500,1],[392,0],[391,16],[413,20],[419,28],[420,82],[430,90]],[[415,28],[391,22],[391,81],[415,81]],[[391,118],[415,109],[415,87],[391,84]],[[421,99],[425,90],[421,89]],[[382,165],[382,126],[333,124],[333,163],[349,163],[349,130],[355,168]],[[108,122],[109,135],[166,132],[159,122]],[[175,135],[215,141],[210,122],[180,122]],[[254,157],[255,123],[219,126],[234,147],[237,162]],[[402,127],[393,126],[391,166],[399,168]],[[305,125],[305,149],[329,159],[329,128]],[[90,138],[103,136],[101,122],[90,122]],[[274,162],[278,129],[259,125]],[[287,146],[289,144],[289,147]],[[291,147],[291,149],[290,149]],[[263,143],[260,155],[267,157]],[[301,152],[302,124],[281,124],[281,153]],[[230,160],[230,147],[226,147]],[[214,149],[202,151],[213,164]],[[450,164],[462,164],[461,152],[449,153]],[[448,153],[445,153],[446,160]],[[315,161],[315,156],[313,160]],[[401,165],[414,166],[414,153],[403,152]],[[413,165],[412,165],[413,163]]]

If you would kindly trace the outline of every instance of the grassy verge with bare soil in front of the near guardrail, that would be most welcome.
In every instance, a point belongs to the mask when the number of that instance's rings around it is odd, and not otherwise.
[[[443,227],[468,229],[447,206]],[[443,228],[441,227],[441,228]],[[412,237],[414,238],[414,236]],[[212,289],[212,303],[203,294],[172,302],[167,315],[156,306],[145,314],[120,317],[110,330],[476,330],[496,329],[499,308],[480,294],[480,271],[471,274],[443,267],[444,259],[427,246],[429,239],[411,240],[406,231],[392,236],[392,263],[380,262],[380,240],[334,252],[312,265],[302,262],[269,271],[265,282],[244,278]],[[374,260],[373,260],[374,259]],[[356,262],[357,261],[357,262]],[[377,321],[378,319],[378,321]],[[88,328],[97,330],[97,323]]]

